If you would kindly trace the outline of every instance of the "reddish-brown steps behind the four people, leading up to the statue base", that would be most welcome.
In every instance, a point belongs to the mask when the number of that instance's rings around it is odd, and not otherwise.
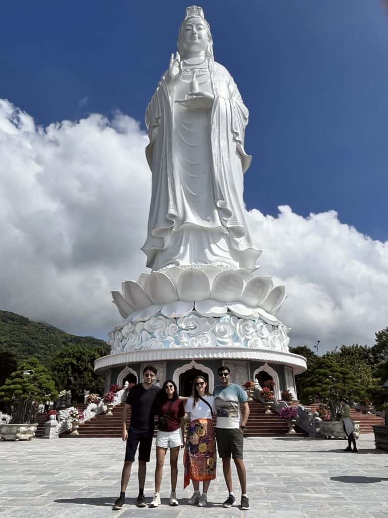
[[[81,423],[79,437],[121,437],[122,408],[122,405],[116,405],[112,410],[113,415],[99,414],[95,418]],[[277,437],[287,434],[286,421],[280,419],[276,413],[265,414],[264,405],[261,402],[249,401],[249,408],[250,415],[244,433],[246,437]],[[303,434],[297,435],[302,436]],[[60,437],[70,437],[70,433],[65,432]]]

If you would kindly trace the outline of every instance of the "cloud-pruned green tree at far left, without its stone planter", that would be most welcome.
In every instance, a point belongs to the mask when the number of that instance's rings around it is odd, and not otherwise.
[[[57,395],[48,370],[37,358],[21,363],[0,387],[0,397],[11,405],[11,423],[33,423],[39,404]]]

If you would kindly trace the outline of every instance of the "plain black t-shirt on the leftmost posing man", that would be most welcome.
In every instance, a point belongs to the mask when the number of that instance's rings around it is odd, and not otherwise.
[[[126,403],[131,405],[131,426],[133,428],[154,429],[154,401],[160,389],[154,385],[145,390],[139,383],[128,392]]]

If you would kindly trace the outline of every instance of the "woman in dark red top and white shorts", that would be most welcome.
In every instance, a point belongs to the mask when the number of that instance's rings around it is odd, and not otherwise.
[[[158,431],[156,435],[155,494],[150,507],[160,506],[160,484],[168,448],[170,448],[171,468],[170,506],[179,505],[175,491],[178,477],[178,455],[179,450],[183,448],[184,403],[185,401],[178,397],[175,383],[172,380],[165,381],[155,400]]]

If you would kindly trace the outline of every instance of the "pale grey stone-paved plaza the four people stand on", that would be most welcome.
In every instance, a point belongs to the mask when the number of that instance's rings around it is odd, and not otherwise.
[[[180,461],[177,496],[181,505],[168,506],[169,462],[162,482],[162,505],[138,509],[137,462],[127,490],[127,505],[112,511],[118,496],[124,456],[120,439],[33,439],[0,443],[0,518],[388,518],[388,453],[375,450],[372,435],[357,441],[359,454],[345,453],[344,440],[250,438],[245,440],[249,511],[223,509],[227,497],[218,464],[209,507],[187,505],[192,488],[183,491]],[[167,459],[168,460],[168,459]],[[148,465],[145,495],[151,501],[155,447]],[[233,468],[237,500],[240,491]],[[189,514],[188,514],[189,513]]]

